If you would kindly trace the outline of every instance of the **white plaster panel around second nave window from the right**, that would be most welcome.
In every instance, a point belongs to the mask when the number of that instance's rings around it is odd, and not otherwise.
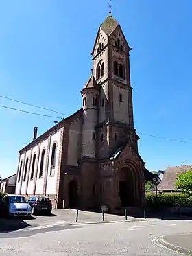
[[[44,181],[45,181],[46,156],[47,156],[48,141],[49,141],[49,139],[47,138],[45,141],[40,143],[40,155],[39,155],[38,173],[37,173],[37,179],[36,179],[36,194],[43,194],[43,184],[44,184]],[[42,153],[43,149],[45,149],[45,156],[44,156],[44,162],[43,162],[43,177],[39,178],[41,153]]]

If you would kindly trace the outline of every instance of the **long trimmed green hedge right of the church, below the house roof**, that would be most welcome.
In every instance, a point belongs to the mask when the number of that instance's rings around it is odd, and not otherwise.
[[[145,198],[147,205],[152,207],[192,207],[192,197],[185,194],[150,194]]]

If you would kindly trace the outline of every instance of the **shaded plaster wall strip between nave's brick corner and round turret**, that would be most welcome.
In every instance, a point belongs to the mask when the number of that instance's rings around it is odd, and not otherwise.
[[[68,156],[67,164],[77,166],[77,160],[80,159],[80,152],[82,144],[81,135],[82,134],[82,119],[76,119],[71,123],[69,127],[69,146],[68,146]]]

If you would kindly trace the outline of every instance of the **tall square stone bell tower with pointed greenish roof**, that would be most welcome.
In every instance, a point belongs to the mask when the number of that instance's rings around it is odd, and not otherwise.
[[[130,51],[121,26],[111,12],[99,27],[91,55],[99,86],[97,117],[98,159],[107,159],[125,141],[137,149],[134,130]]]

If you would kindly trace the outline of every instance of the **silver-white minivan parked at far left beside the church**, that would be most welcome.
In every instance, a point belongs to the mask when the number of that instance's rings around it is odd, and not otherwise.
[[[25,196],[5,195],[2,199],[1,210],[5,216],[28,216],[32,215],[32,207]]]

